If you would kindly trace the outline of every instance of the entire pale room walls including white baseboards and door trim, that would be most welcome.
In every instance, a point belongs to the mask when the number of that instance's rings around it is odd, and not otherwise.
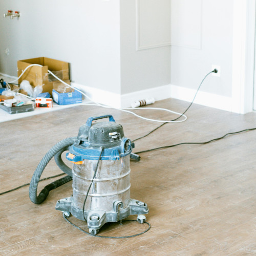
[[[0,0],[3,12],[21,15],[18,20],[0,15],[0,72],[16,75],[18,59],[65,60],[79,88],[119,106],[124,98],[128,103],[143,95],[189,101],[214,64],[221,66],[221,77],[208,77],[195,102],[244,113],[252,108],[253,76],[247,74],[254,56],[248,51],[253,36],[247,40],[254,28],[247,24],[248,12],[255,12],[252,3]]]

